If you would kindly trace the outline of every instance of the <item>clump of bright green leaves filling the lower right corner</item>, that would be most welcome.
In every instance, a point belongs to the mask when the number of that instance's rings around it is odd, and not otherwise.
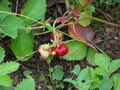
[[[80,70],[80,66],[74,66],[73,77],[64,79],[65,82],[73,84],[79,90],[118,90],[119,75],[113,74],[120,68],[120,60],[111,59],[100,53],[96,53],[94,61],[98,67],[86,67]],[[118,80],[117,80],[118,79]]]

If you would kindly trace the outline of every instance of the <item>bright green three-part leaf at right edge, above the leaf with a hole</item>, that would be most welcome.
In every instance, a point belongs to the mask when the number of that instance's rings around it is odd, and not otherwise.
[[[110,62],[110,58],[104,54],[95,54],[95,63],[99,66],[95,69],[98,75],[109,75],[120,68],[120,59]]]

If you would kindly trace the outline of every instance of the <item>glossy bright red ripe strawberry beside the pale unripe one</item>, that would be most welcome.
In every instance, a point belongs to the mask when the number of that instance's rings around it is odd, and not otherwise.
[[[52,47],[52,51],[55,51],[55,56],[64,56],[68,53],[68,47],[65,44],[58,44],[57,47]]]

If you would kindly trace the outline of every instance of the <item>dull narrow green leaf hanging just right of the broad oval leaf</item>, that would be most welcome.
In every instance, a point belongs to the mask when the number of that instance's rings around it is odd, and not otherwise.
[[[94,61],[94,56],[97,53],[97,51],[94,48],[89,47],[86,60],[88,61],[89,64],[95,66],[95,61]]]

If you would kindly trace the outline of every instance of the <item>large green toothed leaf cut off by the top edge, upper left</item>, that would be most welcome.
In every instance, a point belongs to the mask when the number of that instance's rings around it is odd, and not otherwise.
[[[39,20],[43,19],[46,12],[46,0],[28,0],[24,10],[21,12],[22,15],[31,17],[32,19]],[[26,24],[31,24],[34,21],[23,18]]]

